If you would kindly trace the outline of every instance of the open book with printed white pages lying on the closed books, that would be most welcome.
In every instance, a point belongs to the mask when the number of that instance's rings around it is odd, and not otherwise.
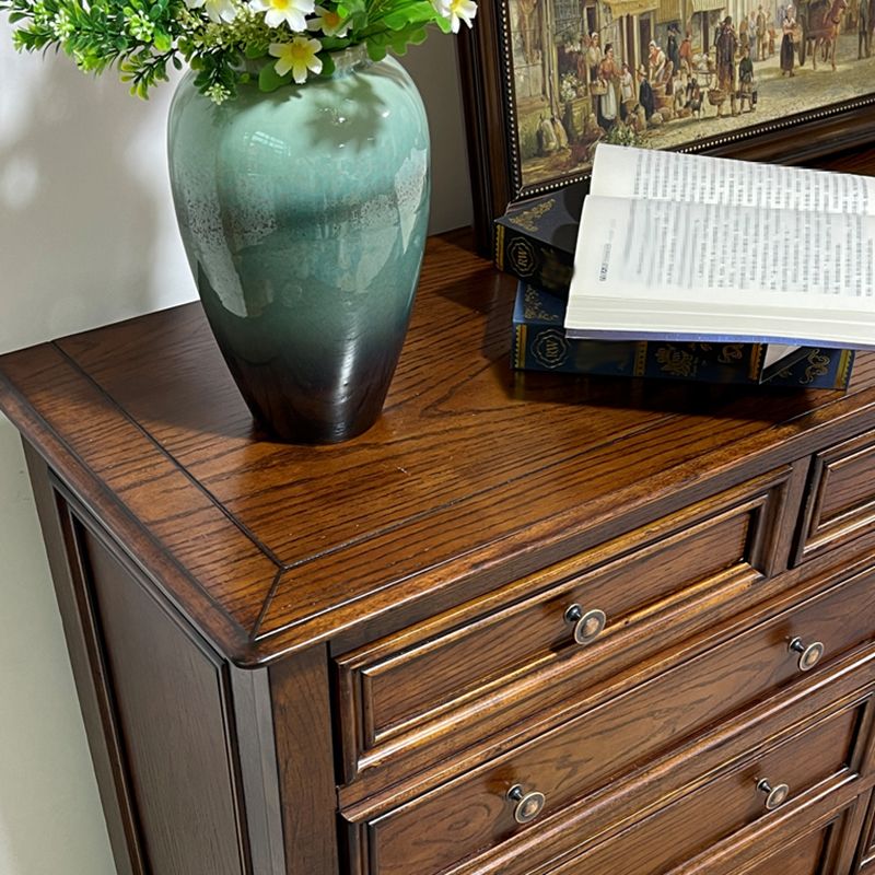
[[[600,144],[565,334],[875,349],[875,178]]]

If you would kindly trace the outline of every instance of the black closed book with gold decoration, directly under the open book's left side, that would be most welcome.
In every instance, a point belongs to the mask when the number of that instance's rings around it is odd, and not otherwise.
[[[584,186],[581,183],[517,203],[495,220],[495,266],[568,298]]]

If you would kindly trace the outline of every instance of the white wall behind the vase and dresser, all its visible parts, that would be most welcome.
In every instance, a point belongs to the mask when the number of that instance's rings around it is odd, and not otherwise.
[[[405,63],[432,129],[432,230],[470,221],[454,43]],[[0,24],[0,352],[195,296],[148,103]],[[0,416],[0,873],[115,872],[18,434]]]

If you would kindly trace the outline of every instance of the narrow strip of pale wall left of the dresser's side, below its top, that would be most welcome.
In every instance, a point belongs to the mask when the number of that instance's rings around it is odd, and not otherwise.
[[[115,875],[18,432],[0,416],[0,872]]]

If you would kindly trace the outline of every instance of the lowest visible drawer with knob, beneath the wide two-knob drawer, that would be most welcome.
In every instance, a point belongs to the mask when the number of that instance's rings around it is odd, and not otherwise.
[[[831,716],[804,734],[742,761],[710,783],[667,805],[588,853],[557,868],[555,875],[665,875],[693,858],[707,856],[719,842],[744,842],[744,830],[769,816],[758,784],[772,793],[789,788],[780,808],[784,816],[818,785],[842,788],[849,771],[860,714],[858,709]],[[830,782],[831,783],[828,783]],[[779,781],[781,784],[779,784]],[[822,855],[822,847],[806,853]],[[698,862],[698,861],[697,861]],[[772,871],[774,872],[774,871]],[[797,875],[797,870],[789,870]],[[552,875],[552,874],[551,874]]]

